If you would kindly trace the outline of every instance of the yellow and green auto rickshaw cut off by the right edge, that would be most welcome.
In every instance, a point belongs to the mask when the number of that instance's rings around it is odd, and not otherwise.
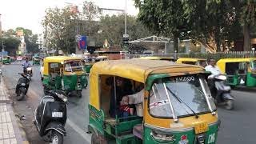
[[[230,86],[256,86],[256,58],[223,58],[217,66]]]

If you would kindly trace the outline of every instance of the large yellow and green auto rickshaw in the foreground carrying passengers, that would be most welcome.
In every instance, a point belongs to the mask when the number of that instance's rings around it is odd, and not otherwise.
[[[202,66],[174,62],[96,62],[90,70],[91,143],[216,143],[220,121],[206,77]],[[125,90],[135,105],[126,116],[118,102]]]

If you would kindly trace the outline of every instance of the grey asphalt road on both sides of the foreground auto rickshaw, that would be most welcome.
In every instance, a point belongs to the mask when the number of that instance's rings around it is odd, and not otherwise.
[[[4,74],[9,78],[11,86],[15,86],[22,70],[20,65],[5,66]],[[28,93],[29,102],[38,106],[42,97],[42,83],[39,76],[39,66],[34,66],[34,77],[30,83]],[[82,98],[70,98],[68,105],[68,121],[66,124],[67,137],[65,143],[86,143],[90,135],[86,134],[88,123],[88,89],[83,91]],[[256,143],[254,138],[256,130],[256,94],[255,92],[237,91],[232,94],[235,97],[235,109],[224,110],[218,108],[218,115],[222,120],[221,130],[218,133],[218,143]],[[27,100],[26,100],[27,101]],[[89,140],[90,141],[90,140]],[[38,144],[38,143],[37,143]]]

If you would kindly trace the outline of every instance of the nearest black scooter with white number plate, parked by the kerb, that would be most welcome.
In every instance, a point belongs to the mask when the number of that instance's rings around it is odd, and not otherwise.
[[[46,142],[62,144],[66,136],[67,97],[61,90],[50,90],[34,111],[34,125]]]

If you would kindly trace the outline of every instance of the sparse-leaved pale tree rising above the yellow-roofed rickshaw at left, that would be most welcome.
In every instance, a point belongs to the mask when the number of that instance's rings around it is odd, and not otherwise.
[[[76,19],[78,14],[73,13],[69,7],[46,10],[42,25],[46,30],[48,48],[66,53],[74,52]]]

